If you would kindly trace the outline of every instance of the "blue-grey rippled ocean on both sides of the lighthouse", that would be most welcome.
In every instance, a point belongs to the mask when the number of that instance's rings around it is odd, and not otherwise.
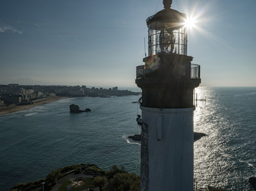
[[[194,143],[197,188],[211,185],[250,190],[256,176],[256,88],[196,88]],[[102,169],[126,167],[140,175],[140,95],[69,98],[0,115],[0,190],[45,178],[59,167],[93,163]],[[89,113],[70,113],[70,104]]]

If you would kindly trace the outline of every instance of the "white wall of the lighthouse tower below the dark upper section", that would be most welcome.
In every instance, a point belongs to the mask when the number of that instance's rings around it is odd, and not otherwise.
[[[193,110],[142,107],[148,149],[142,144],[141,190],[193,190]],[[146,136],[142,131],[142,143]],[[147,153],[148,152],[148,153]],[[148,159],[147,159],[148,158]],[[148,173],[148,174],[147,174]],[[148,180],[147,180],[148,178]],[[144,186],[144,187],[143,187]]]

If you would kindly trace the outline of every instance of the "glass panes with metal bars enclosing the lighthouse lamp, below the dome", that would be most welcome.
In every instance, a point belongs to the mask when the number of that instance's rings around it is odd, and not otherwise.
[[[186,28],[168,28],[163,22],[149,24],[149,55],[176,53],[186,55]]]

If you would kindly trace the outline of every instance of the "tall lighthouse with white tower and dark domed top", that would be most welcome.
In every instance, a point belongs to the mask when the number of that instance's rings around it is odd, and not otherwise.
[[[193,190],[194,90],[200,66],[187,56],[186,15],[163,1],[146,19],[149,52],[136,67],[142,89],[140,190]]]

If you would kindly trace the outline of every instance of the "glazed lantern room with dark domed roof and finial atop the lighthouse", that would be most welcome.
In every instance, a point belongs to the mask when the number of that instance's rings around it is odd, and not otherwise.
[[[160,53],[187,55],[186,15],[171,9],[171,3],[164,1],[165,9],[146,19],[149,56]]]

